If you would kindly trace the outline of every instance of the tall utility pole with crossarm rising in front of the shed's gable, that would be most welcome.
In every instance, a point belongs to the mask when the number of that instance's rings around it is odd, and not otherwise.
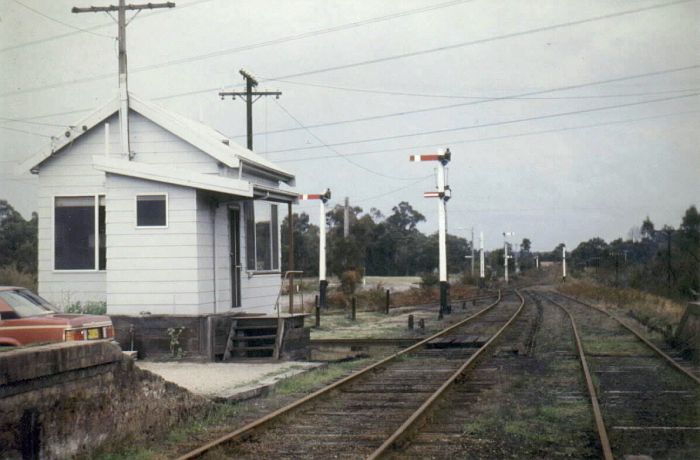
[[[129,143],[129,88],[126,67],[126,11],[136,11],[138,14],[141,10],[152,10],[156,8],[174,8],[175,3],[144,3],[140,5],[126,5],[125,0],[119,0],[119,5],[109,6],[90,6],[87,8],[78,8],[74,6],[71,12],[73,13],[111,13],[117,12],[118,25],[118,41],[119,41],[119,138],[121,140],[122,153],[129,160],[134,154],[131,152]]]

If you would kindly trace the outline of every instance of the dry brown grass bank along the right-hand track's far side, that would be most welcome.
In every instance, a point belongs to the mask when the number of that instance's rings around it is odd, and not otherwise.
[[[604,308],[618,308],[652,330],[667,337],[673,335],[685,306],[664,297],[629,288],[602,286],[589,281],[561,285],[559,290],[574,297],[591,299]]]

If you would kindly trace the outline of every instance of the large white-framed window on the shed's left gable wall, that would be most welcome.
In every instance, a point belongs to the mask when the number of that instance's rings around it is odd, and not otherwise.
[[[54,269],[105,270],[104,196],[54,199]]]

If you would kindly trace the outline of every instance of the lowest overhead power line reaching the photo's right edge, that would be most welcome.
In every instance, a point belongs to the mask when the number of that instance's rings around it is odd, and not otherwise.
[[[566,126],[563,128],[552,128],[552,129],[544,129],[544,130],[538,130],[538,131],[527,131],[524,133],[514,133],[514,134],[504,134],[500,136],[489,136],[489,137],[479,137],[479,138],[472,138],[472,139],[453,139],[445,142],[440,142],[440,144],[445,144],[445,145],[459,145],[459,144],[471,144],[471,143],[477,143],[477,142],[488,142],[488,141],[495,141],[495,140],[502,140],[502,139],[513,139],[517,137],[526,137],[526,136],[536,136],[538,134],[551,134],[551,133],[558,133],[558,132],[563,132],[563,131],[574,131],[577,129],[587,129],[587,128],[600,128],[604,126],[613,126],[613,125],[619,125],[619,124],[625,124],[625,123],[634,123],[638,121],[647,121],[647,120],[656,120],[659,118],[666,118],[666,117],[672,117],[672,116],[678,116],[678,115],[690,115],[690,114],[696,114],[700,113],[700,110],[686,110],[682,112],[673,112],[673,113],[667,113],[663,115],[654,115],[650,117],[639,117],[639,118],[629,118],[629,119],[624,119],[624,120],[616,120],[616,121],[607,121],[607,122],[601,122],[601,123],[590,123],[590,124],[585,124],[585,125],[576,125],[576,126]],[[363,155],[373,155],[377,153],[388,153],[388,152],[397,152],[397,151],[406,151],[406,150],[419,150],[419,149],[428,149],[428,148],[433,148],[436,146],[436,143],[433,142],[431,144],[421,144],[421,145],[412,145],[408,147],[393,147],[389,149],[379,149],[379,150],[365,150],[362,152],[352,152],[352,153],[345,153],[344,156],[346,157],[356,157],[356,156],[363,156]],[[303,158],[291,158],[291,159],[280,159],[280,160],[275,160],[275,163],[293,163],[293,162],[299,162],[299,161],[310,161],[310,160],[327,160],[329,157],[327,155],[317,155],[317,156],[311,156],[311,157],[303,157]]]

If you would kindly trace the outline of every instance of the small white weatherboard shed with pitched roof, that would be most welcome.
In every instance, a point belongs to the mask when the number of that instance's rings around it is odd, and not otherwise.
[[[294,175],[133,94],[128,119],[131,155],[115,97],[21,166],[39,175],[40,295],[111,315],[271,313]]]

